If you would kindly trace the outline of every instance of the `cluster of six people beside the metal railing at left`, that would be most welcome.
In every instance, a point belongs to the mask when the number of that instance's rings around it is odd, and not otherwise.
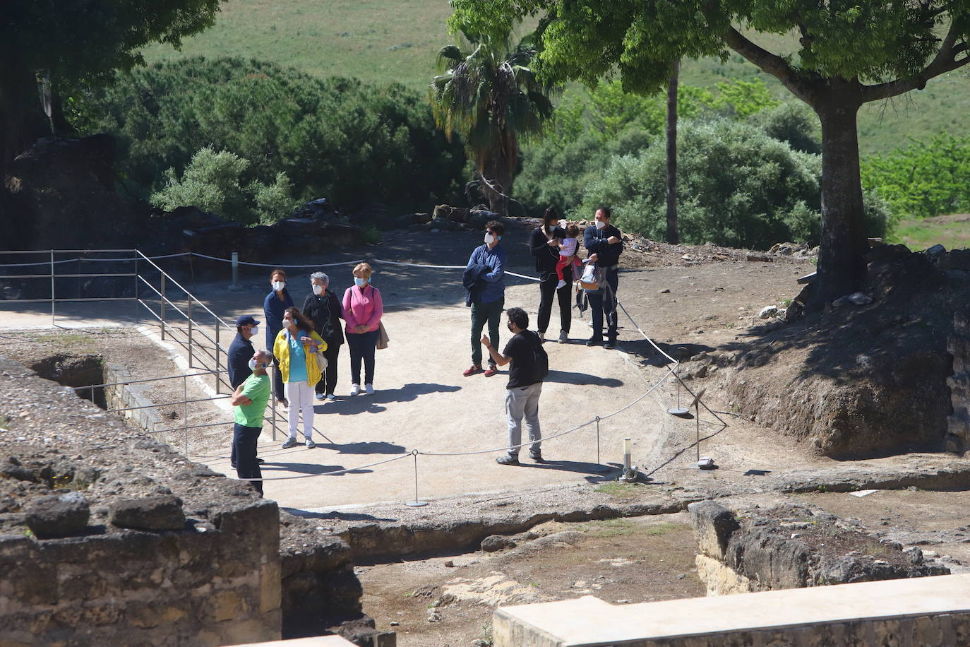
[[[274,270],[270,274],[272,289],[263,301],[267,350],[257,351],[252,344],[260,324],[255,317],[242,315],[236,320],[236,338],[229,346],[227,359],[236,423],[230,462],[240,478],[262,478],[256,440],[271,397],[267,372],[271,364],[276,368],[272,387],[276,402],[287,409],[289,435],[283,449],[300,444],[297,436],[301,417],[307,448],[316,446],[313,399],[315,396],[318,401],[337,400],[337,367],[344,340],[350,349],[350,395],[373,394],[374,351],[384,305],[380,291],[371,285],[372,272],[368,263],[354,267],[354,284],[344,291],[342,300],[329,289],[329,276],[313,273],[311,294],[300,309],[293,305],[286,273]],[[253,483],[262,493],[261,482]]]

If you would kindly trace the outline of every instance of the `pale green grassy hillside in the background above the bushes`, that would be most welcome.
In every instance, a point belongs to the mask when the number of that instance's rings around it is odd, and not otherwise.
[[[254,57],[314,75],[400,81],[422,89],[435,75],[437,50],[452,42],[445,28],[450,14],[447,0],[230,0],[210,31],[188,39],[180,52],[162,46],[146,49],[146,59]],[[784,35],[759,35],[756,40],[775,51],[793,44]],[[706,85],[756,77],[794,101],[778,81],[737,54],[724,64],[687,61],[682,81]],[[968,128],[970,80],[957,71],[930,81],[925,90],[866,106],[859,115],[859,145],[863,153],[876,152],[905,145],[909,137],[928,139],[941,130],[958,134]]]

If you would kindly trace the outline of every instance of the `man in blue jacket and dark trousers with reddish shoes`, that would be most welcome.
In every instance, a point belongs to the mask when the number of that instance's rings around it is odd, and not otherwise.
[[[466,272],[472,266],[488,266],[487,272],[479,274],[481,289],[475,291],[471,302],[471,368],[465,376],[482,372],[482,329],[488,323],[488,336],[492,343],[499,342],[499,323],[505,307],[505,262],[508,254],[499,244],[505,227],[497,220],[485,225],[485,244],[478,245],[471,252]],[[489,357],[486,377],[499,372],[495,360]]]

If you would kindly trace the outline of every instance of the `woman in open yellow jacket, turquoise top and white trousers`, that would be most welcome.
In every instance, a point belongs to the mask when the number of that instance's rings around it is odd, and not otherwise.
[[[273,342],[273,356],[279,365],[283,378],[283,391],[290,403],[290,437],[283,443],[283,449],[297,444],[297,424],[300,412],[304,415],[304,436],[307,449],[316,446],[313,442],[313,387],[320,381],[320,366],[314,353],[327,349],[324,341],[313,330],[313,322],[296,307],[283,311],[283,329]]]

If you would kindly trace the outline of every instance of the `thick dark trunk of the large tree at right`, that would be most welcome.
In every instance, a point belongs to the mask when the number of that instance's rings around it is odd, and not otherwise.
[[[856,123],[861,102],[854,89],[846,83],[815,105],[822,121],[822,241],[809,307],[857,291],[865,278],[868,243]]]

